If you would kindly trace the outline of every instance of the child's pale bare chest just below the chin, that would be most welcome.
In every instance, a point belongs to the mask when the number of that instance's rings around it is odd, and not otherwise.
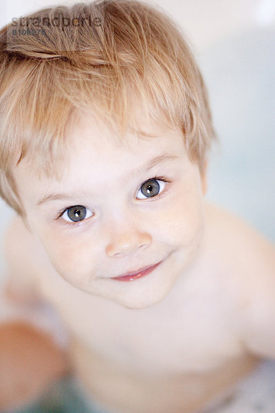
[[[70,286],[44,282],[72,337],[91,353],[136,372],[203,372],[241,354],[230,302],[219,286],[168,295],[142,310],[120,307]],[[177,288],[177,286],[175,286]],[[62,295],[60,292],[63,292]]]

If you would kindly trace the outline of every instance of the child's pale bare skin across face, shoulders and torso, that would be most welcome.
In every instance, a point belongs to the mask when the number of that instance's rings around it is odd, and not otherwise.
[[[83,116],[60,181],[14,169],[26,218],[7,234],[8,290],[56,308],[74,372],[111,413],[199,412],[275,357],[275,248],[204,200],[178,131],[143,126],[155,136],[125,147]]]

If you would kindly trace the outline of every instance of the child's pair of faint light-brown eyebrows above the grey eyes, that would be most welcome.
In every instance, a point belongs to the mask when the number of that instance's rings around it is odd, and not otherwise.
[[[163,153],[162,155],[156,156],[155,158],[149,160],[146,165],[143,165],[139,169],[133,171],[131,176],[137,176],[142,172],[150,171],[153,167],[157,165],[161,165],[164,162],[178,160],[179,156],[173,155],[171,153]],[[43,198],[39,199],[36,205],[39,207],[42,204],[50,201],[57,201],[57,200],[69,200],[79,196],[79,193],[72,192],[72,193],[50,193],[48,195],[43,196]]]

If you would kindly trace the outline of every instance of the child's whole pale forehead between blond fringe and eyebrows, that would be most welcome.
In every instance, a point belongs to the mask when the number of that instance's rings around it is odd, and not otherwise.
[[[36,179],[40,182],[69,182],[83,174],[92,178],[119,178],[145,165],[156,156],[185,156],[179,131],[152,119],[140,118],[136,130],[126,132],[124,138],[94,116],[83,113],[72,124],[66,136],[63,158],[57,160],[56,176],[41,173],[39,165],[23,159],[15,171],[17,182]],[[100,177],[96,175],[100,173]]]

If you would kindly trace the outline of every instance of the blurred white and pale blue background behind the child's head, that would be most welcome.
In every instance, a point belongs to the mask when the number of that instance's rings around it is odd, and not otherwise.
[[[1,0],[0,26],[73,1]],[[219,145],[206,197],[275,242],[275,0],[160,0],[188,38],[208,86]],[[13,211],[0,200],[3,231]]]

